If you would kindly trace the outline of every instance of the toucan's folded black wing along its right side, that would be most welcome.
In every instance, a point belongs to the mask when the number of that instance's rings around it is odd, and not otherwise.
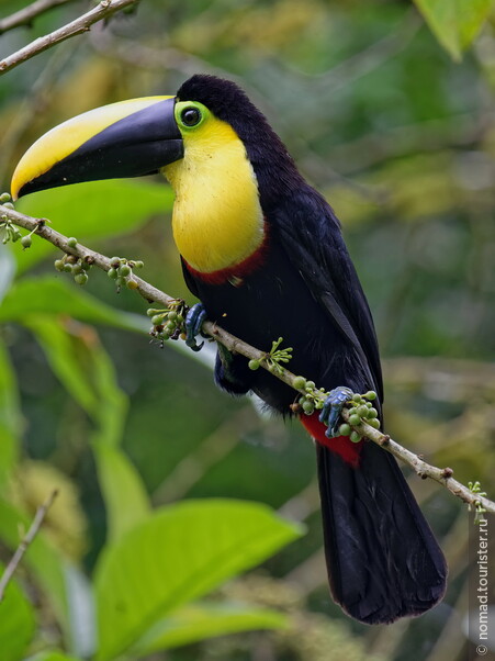
[[[331,208],[307,186],[284,199],[268,217],[289,259],[352,345],[370,386],[383,401],[373,318]]]

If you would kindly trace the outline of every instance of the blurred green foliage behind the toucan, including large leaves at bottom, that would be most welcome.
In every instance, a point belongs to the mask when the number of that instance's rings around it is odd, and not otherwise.
[[[9,0],[1,12],[24,4]],[[173,93],[195,71],[236,79],[342,220],[379,330],[389,432],[490,492],[491,4],[417,1],[457,58],[486,19],[454,63],[400,0],[143,0],[1,78],[0,189],[36,137],[79,112]],[[466,13],[459,19],[454,7]],[[67,2],[5,33],[0,56],[86,8]],[[36,193],[18,208],[109,256],[143,259],[146,280],[192,302],[171,238],[171,204],[168,187],[150,178]],[[217,392],[211,356],[149,345],[144,301],[127,290],[117,296],[94,269],[80,289],[55,272],[55,257],[36,237],[26,251],[0,246],[3,563],[36,507],[60,491],[0,604],[8,661],[88,658],[94,619],[101,659],[465,658],[468,520],[460,503],[412,478],[449,560],[443,603],[373,630],[349,620],[328,595],[305,434]],[[268,559],[300,530],[240,500],[280,508],[304,522],[306,534]],[[227,544],[222,557],[218,540]],[[211,564],[198,565],[199,556]],[[262,570],[224,583],[262,560]]]

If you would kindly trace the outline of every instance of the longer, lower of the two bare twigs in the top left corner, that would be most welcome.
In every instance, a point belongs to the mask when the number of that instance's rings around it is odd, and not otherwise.
[[[19,66],[26,59],[34,57],[38,53],[43,51],[47,51],[55,46],[55,44],[59,44],[65,40],[75,36],[76,34],[82,34],[83,32],[88,32],[90,26],[102,19],[108,19],[116,11],[121,9],[125,9],[126,7],[131,7],[135,4],[138,0],[101,0],[101,2],[88,11],[86,14],[77,18],[76,20],[67,23],[63,27],[46,34],[45,36],[41,36],[40,38],[31,42],[24,48],[21,48],[16,53],[9,55],[0,61],[0,74],[5,74],[10,69]]]

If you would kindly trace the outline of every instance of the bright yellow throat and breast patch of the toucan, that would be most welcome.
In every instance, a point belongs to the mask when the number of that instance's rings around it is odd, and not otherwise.
[[[185,144],[184,158],[164,170],[176,192],[173,238],[194,270],[211,275],[230,269],[262,246],[256,176],[227,124],[207,143]]]

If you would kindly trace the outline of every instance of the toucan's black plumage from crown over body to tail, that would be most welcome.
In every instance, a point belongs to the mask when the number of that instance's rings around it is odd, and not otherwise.
[[[294,349],[295,373],[328,390],[375,390],[381,408],[373,321],[333,210],[236,85],[194,76],[178,98],[203,103],[235,130],[254,167],[268,225],[265,253],[240,285],[211,284],[184,265],[190,290],[210,320],[254,346],[268,349],[283,336],[284,346]],[[294,392],[265,370],[249,370],[244,357],[217,358],[215,374],[228,392],[252,390],[290,414]],[[352,466],[319,441],[325,551],[336,601],[369,624],[430,608],[445,592],[446,562],[395,459],[363,442],[359,466]]]

